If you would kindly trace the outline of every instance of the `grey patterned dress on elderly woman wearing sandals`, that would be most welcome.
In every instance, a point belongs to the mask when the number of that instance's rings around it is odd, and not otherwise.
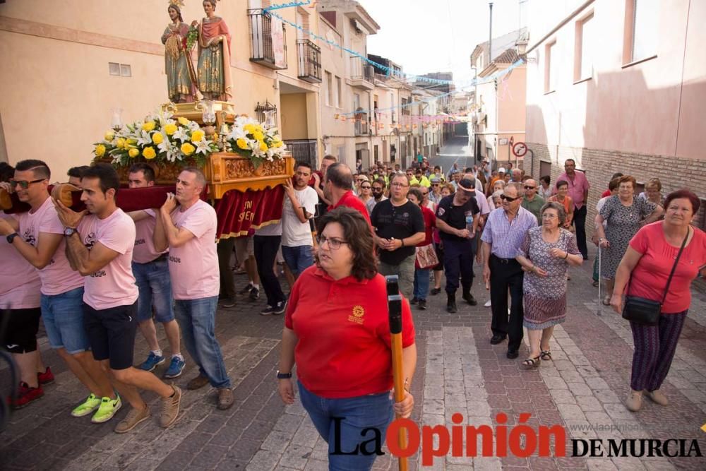
[[[525,273],[525,319],[523,324],[530,330],[540,330],[562,323],[566,319],[566,260],[549,254],[551,249],[561,249],[570,255],[581,255],[576,236],[566,229],[559,229],[556,242],[542,238],[542,227],[527,231],[517,254],[524,256],[538,268],[546,271],[546,277],[537,273]]]

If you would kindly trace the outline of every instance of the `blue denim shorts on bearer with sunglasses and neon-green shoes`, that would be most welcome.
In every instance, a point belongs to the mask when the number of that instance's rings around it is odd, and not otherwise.
[[[49,345],[76,354],[90,350],[83,327],[83,286],[61,294],[42,294],[42,318]]]

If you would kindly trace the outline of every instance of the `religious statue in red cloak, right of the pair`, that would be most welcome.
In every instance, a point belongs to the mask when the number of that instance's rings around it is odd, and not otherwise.
[[[205,100],[228,101],[232,96],[230,80],[230,33],[223,18],[215,16],[216,0],[203,0],[206,17],[198,27],[198,90]]]

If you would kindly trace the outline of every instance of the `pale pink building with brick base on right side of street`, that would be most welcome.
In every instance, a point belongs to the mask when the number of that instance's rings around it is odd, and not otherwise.
[[[530,11],[527,143],[534,159],[528,154],[525,168],[556,180],[574,159],[592,185],[588,220],[615,172],[638,185],[658,177],[665,196],[687,188],[706,197],[706,3],[655,5],[576,0]],[[698,225],[706,226],[703,212]]]

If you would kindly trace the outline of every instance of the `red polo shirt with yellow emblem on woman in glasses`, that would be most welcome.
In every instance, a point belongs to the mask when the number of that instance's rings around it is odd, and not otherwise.
[[[354,398],[393,387],[385,277],[333,280],[317,266],[292,287],[285,326],[299,338],[297,378],[323,398]],[[414,344],[414,323],[402,300],[402,347]]]

